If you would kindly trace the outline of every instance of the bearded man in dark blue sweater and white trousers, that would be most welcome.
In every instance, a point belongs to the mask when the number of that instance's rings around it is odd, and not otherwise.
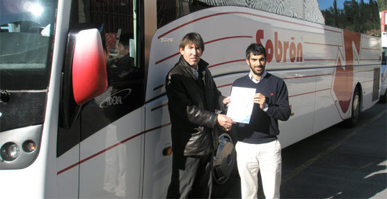
[[[257,198],[258,170],[261,170],[264,195],[280,197],[281,145],[278,142],[278,120],[290,117],[287,87],[283,79],[264,70],[266,51],[262,45],[251,44],[246,49],[248,75],[232,86],[255,88],[253,113],[248,124],[236,126],[238,142],[237,165],[241,177],[242,198]]]

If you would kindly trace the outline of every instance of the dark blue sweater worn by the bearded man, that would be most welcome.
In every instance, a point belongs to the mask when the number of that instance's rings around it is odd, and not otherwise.
[[[235,80],[232,86],[255,88],[255,93],[264,95],[266,103],[269,105],[269,109],[265,112],[260,109],[259,104],[254,104],[250,123],[235,125],[238,141],[255,144],[276,140],[280,133],[278,120],[289,119],[291,113],[285,81],[267,73],[258,83],[254,83],[246,75]]]

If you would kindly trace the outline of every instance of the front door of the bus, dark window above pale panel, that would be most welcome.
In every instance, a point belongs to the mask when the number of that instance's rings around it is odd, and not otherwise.
[[[79,115],[79,198],[139,198],[143,69],[136,64],[132,1],[72,3],[72,24],[102,24],[109,88]],[[70,24],[70,26],[72,26]]]

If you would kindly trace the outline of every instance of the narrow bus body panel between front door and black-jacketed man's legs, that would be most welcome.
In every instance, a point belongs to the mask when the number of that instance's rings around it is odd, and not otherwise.
[[[165,198],[172,173],[171,123],[166,95],[145,105],[145,156],[142,198]],[[169,151],[171,152],[171,151]]]

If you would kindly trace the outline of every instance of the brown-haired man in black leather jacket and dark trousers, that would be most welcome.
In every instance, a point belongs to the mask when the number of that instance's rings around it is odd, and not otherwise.
[[[171,118],[173,164],[167,198],[210,198],[212,160],[218,135],[212,129],[229,130],[232,120],[215,113],[230,97],[216,88],[208,63],[200,59],[204,42],[188,33],[180,42],[180,60],[166,76]]]

